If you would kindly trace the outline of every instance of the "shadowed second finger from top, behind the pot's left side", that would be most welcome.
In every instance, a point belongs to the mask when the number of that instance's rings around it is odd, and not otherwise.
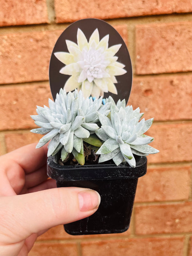
[[[31,172],[25,177],[26,187],[35,187],[36,185],[42,183],[48,178],[47,175],[47,165],[42,166],[38,170]]]

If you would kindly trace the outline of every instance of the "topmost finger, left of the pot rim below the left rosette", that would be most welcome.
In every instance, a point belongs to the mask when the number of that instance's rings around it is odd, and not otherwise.
[[[16,149],[8,154],[1,156],[2,158],[14,160],[26,173],[39,169],[47,162],[47,145],[36,149],[36,143],[32,143]]]

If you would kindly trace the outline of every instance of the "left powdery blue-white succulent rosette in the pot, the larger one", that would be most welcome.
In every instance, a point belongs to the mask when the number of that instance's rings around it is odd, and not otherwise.
[[[62,160],[65,160],[71,152],[76,159],[79,154],[81,159],[84,159],[83,139],[93,139],[90,133],[99,129],[98,113],[108,115],[110,105],[110,103],[102,105],[102,98],[95,101],[89,98],[84,99],[81,91],[78,93],[75,90],[67,94],[65,90],[60,89],[55,102],[49,99],[49,107],[37,106],[37,115],[31,116],[36,125],[41,127],[31,132],[46,133],[36,148],[42,147],[51,140],[48,146],[48,156],[55,155],[62,148]]]

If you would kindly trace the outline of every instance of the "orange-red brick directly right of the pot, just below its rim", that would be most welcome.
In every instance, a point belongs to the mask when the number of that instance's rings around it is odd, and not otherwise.
[[[135,202],[188,199],[190,170],[190,166],[148,169],[138,180]]]

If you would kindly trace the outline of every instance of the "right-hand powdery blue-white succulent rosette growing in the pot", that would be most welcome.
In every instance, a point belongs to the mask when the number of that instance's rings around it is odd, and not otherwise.
[[[100,154],[99,162],[113,159],[116,165],[126,161],[135,167],[133,154],[147,156],[159,152],[148,145],[154,138],[144,134],[152,125],[153,118],[139,122],[142,115],[139,108],[133,110],[132,106],[125,107],[124,101],[118,101],[117,105],[111,104],[110,119],[98,114],[101,128],[95,133],[104,141],[97,151]]]

